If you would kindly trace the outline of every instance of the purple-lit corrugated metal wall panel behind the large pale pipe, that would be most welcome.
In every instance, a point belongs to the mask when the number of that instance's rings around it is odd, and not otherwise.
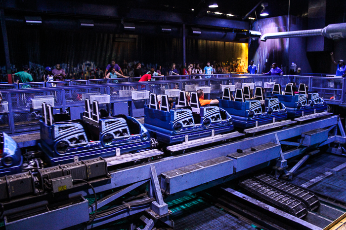
[[[273,18],[265,18],[255,21],[254,31],[264,33],[286,32],[287,15]],[[266,42],[259,39],[252,39],[249,46],[249,59],[253,59],[255,64],[259,64],[259,73],[268,72],[272,63],[277,63],[285,73],[288,65],[287,38],[268,39]],[[267,63],[265,63],[267,60]]]

